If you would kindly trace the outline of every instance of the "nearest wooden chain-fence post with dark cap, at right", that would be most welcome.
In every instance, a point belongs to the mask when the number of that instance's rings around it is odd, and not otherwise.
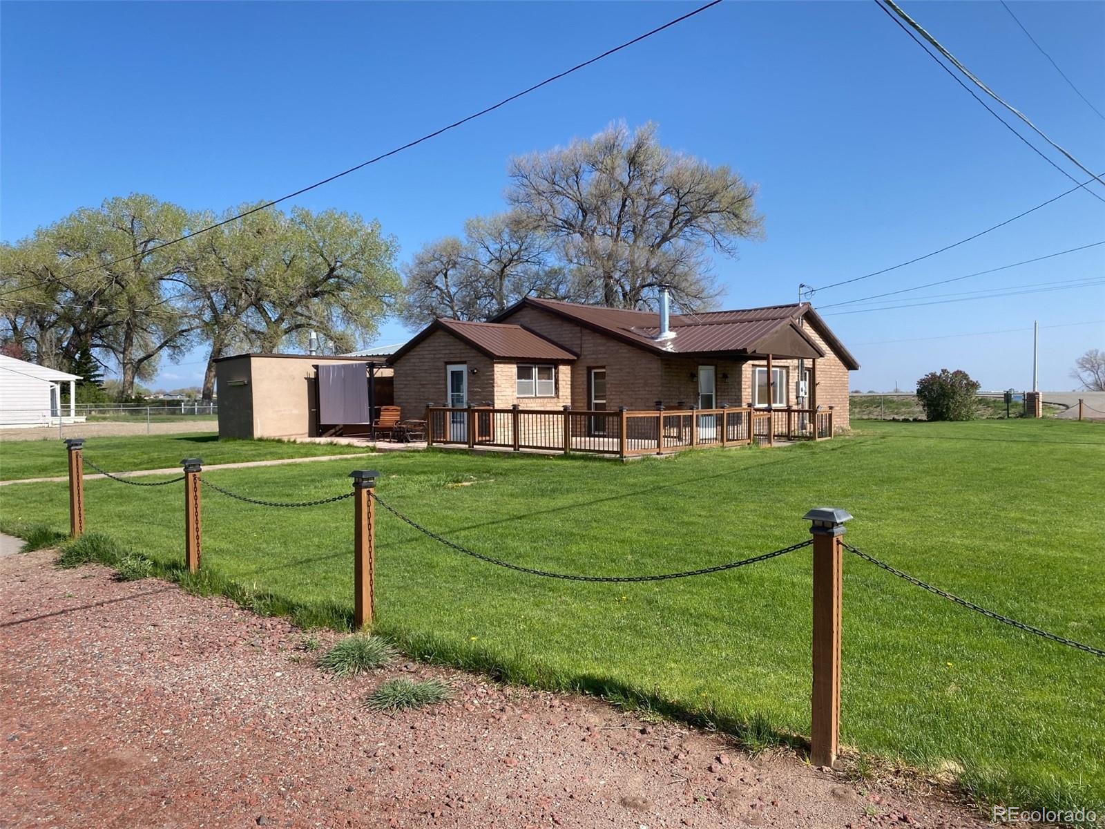
[[[821,506],[802,516],[813,535],[813,692],[810,762],[832,767],[840,738],[840,630],[844,510]]]

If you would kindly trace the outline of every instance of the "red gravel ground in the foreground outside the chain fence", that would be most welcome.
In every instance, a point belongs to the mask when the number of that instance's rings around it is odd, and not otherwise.
[[[51,557],[0,558],[6,828],[987,826],[597,700],[402,661],[336,680],[284,620]],[[387,675],[455,696],[361,707]]]

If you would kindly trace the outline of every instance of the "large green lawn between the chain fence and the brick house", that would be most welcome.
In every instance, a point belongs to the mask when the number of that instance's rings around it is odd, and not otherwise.
[[[98,455],[134,465],[127,445]],[[817,444],[629,464],[422,452],[210,479],[297,500],[348,491],[356,465],[379,469],[380,496],[449,538],[572,573],[743,558],[808,537],[801,516],[811,506],[841,506],[855,516],[845,538],[861,549],[1105,647],[1105,429],[1092,423],[873,422]],[[90,529],[162,565],[180,562],[178,486],[94,481],[85,501]],[[0,489],[9,532],[64,529],[66,510],[63,484]],[[224,588],[231,580],[239,596],[260,591],[262,609],[301,621],[349,617],[349,501],[277,511],[208,491],[203,520],[203,566]],[[705,715],[746,737],[809,732],[809,549],[694,579],[571,583],[483,564],[380,514],[376,584],[377,630],[419,657]],[[845,560],[843,640],[844,743],[928,768],[955,763],[982,800],[1102,811],[1105,660],[998,625],[854,556]]]

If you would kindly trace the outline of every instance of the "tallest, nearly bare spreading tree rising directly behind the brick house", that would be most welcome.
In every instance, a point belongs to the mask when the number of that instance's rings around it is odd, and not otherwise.
[[[718,293],[707,253],[735,255],[762,230],[753,186],[661,146],[652,124],[512,159],[509,177],[507,201],[556,244],[581,302],[642,307],[669,284],[686,309],[707,307]]]

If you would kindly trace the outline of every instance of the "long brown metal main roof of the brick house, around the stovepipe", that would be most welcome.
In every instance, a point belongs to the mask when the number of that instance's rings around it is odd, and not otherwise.
[[[674,314],[671,317],[671,326],[677,336],[662,343],[654,339],[660,328],[657,315],[652,311],[607,308],[528,296],[496,317],[496,321],[508,319],[524,306],[540,308],[591,330],[661,355],[771,353],[791,357],[823,357],[824,350],[798,324],[804,318],[845,366],[850,369],[860,367],[809,303],[708,311],[694,315]]]

